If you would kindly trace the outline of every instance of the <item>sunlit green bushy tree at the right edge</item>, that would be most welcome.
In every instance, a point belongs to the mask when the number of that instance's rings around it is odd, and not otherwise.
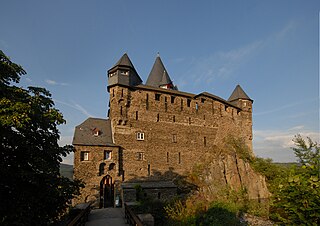
[[[293,141],[299,165],[275,192],[275,217],[286,225],[320,225],[320,146],[300,135]]]

